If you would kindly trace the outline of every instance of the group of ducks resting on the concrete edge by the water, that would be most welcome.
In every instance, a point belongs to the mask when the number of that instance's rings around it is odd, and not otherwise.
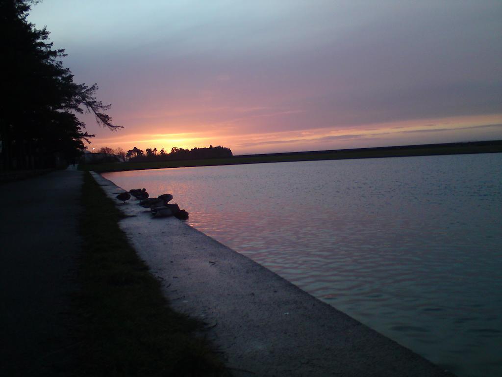
[[[180,220],[188,219],[188,212],[180,210],[180,207],[176,203],[168,204],[173,199],[171,194],[162,194],[157,198],[149,198],[145,189],[133,189],[129,190],[129,192],[120,193],[115,198],[126,204],[126,201],[131,199],[131,196],[140,201],[140,206],[150,208],[154,217],[174,216]]]

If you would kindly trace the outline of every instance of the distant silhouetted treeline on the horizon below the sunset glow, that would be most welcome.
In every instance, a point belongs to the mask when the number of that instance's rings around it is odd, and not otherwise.
[[[232,151],[230,148],[225,148],[220,145],[209,148],[171,148],[171,152],[166,153],[164,148],[160,151],[157,148],[147,148],[145,152],[137,147],[126,152],[126,158],[131,162],[140,161],[163,161],[163,160],[189,160],[189,159],[204,159],[204,158],[223,158],[231,157]]]

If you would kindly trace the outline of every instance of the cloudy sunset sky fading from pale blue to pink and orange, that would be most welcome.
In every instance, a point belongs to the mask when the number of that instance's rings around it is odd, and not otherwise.
[[[499,0],[44,0],[112,132],[90,149],[233,154],[502,139]]]

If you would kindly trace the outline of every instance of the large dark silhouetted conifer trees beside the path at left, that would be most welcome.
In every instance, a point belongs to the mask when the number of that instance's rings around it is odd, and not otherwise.
[[[96,84],[73,82],[63,66],[64,50],[54,50],[49,32],[36,29],[27,16],[34,0],[0,1],[2,35],[0,141],[3,167],[54,164],[54,156],[73,160],[89,142],[85,124],[76,114],[88,111],[110,130],[119,128],[105,114],[110,105],[96,99]],[[50,161],[52,160],[52,161]]]

